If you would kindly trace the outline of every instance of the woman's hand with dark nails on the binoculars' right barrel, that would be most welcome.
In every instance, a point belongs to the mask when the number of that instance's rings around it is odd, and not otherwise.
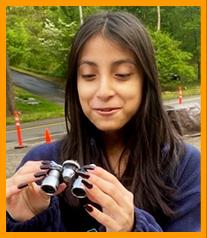
[[[87,197],[102,207],[102,211],[88,204],[88,213],[107,231],[131,231],[134,224],[133,194],[106,170],[96,167],[83,182]],[[87,184],[88,183],[88,184]]]

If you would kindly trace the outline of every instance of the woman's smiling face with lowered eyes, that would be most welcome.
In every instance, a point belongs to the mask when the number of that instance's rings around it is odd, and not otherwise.
[[[142,97],[142,72],[133,53],[95,35],[80,52],[77,73],[86,117],[101,131],[121,129],[137,111]]]

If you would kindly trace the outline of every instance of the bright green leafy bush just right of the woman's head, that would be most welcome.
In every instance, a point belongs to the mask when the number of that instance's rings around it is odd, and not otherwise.
[[[168,33],[151,32],[157,59],[159,77],[163,90],[175,90],[178,85],[189,85],[195,80],[195,69],[189,64],[191,53],[180,49],[180,42]],[[180,76],[180,81],[172,80],[172,75]]]

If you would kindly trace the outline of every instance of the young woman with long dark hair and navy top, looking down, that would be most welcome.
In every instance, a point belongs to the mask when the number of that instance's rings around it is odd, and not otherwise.
[[[184,144],[163,109],[154,50],[124,12],[89,17],[70,51],[67,135],[40,145],[7,180],[7,231],[199,231],[199,151]],[[40,182],[50,161],[95,164],[87,194]]]

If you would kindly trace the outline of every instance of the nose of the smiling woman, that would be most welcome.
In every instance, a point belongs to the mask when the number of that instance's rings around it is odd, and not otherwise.
[[[101,77],[97,88],[96,96],[101,100],[108,100],[115,94],[113,79],[111,77]]]

